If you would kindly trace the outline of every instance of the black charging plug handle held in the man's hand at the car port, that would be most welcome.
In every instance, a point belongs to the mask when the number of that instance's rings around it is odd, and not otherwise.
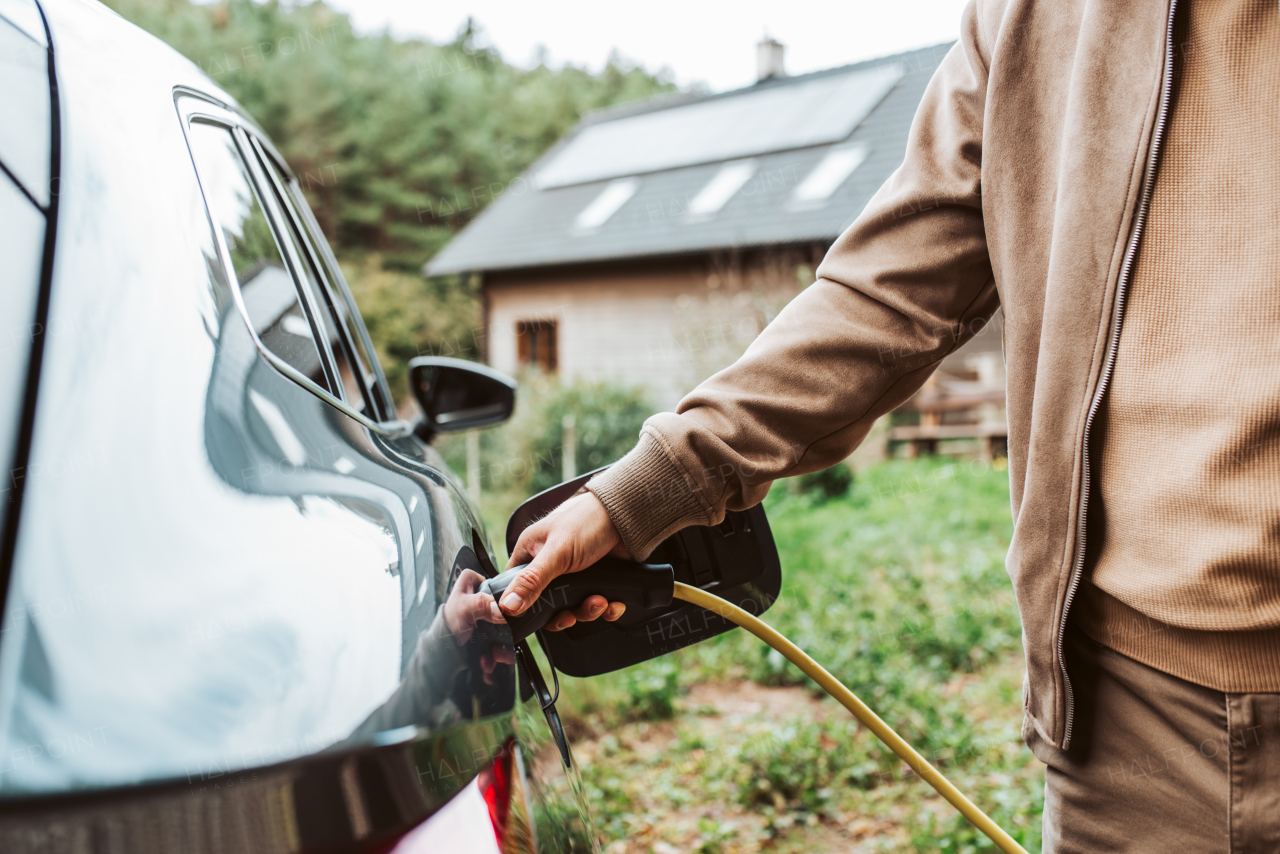
[[[480,589],[502,599],[507,586],[524,566],[515,566],[502,575],[486,579]],[[545,626],[561,611],[576,608],[588,597],[602,595],[609,602],[622,602],[627,609],[664,608],[676,593],[676,571],[669,563],[635,563],[607,557],[579,572],[566,572],[548,585],[518,617],[507,615],[507,626],[515,643]]]

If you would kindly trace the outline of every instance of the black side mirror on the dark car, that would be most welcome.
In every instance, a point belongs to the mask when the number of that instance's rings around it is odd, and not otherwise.
[[[485,365],[420,356],[408,364],[408,383],[422,407],[420,433],[454,433],[502,424],[516,408],[516,380]]]

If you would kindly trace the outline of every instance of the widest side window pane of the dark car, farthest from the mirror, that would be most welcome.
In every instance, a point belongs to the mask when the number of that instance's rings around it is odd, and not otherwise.
[[[227,241],[259,338],[312,383],[337,393],[325,376],[315,329],[234,137],[221,125],[192,122],[189,140],[205,200]]]

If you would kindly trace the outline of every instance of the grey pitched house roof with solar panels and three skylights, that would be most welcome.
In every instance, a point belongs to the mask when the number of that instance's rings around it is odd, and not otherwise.
[[[948,49],[591,114],[426,273],[833,241],[901,164]]]

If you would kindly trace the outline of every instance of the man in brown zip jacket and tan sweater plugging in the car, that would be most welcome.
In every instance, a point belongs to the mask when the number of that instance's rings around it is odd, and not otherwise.
[[[502,606],[842,460],[1002,306],[1044,850],[1280,850],[1277,4],[961,29],[818,282],[525,531]]]

